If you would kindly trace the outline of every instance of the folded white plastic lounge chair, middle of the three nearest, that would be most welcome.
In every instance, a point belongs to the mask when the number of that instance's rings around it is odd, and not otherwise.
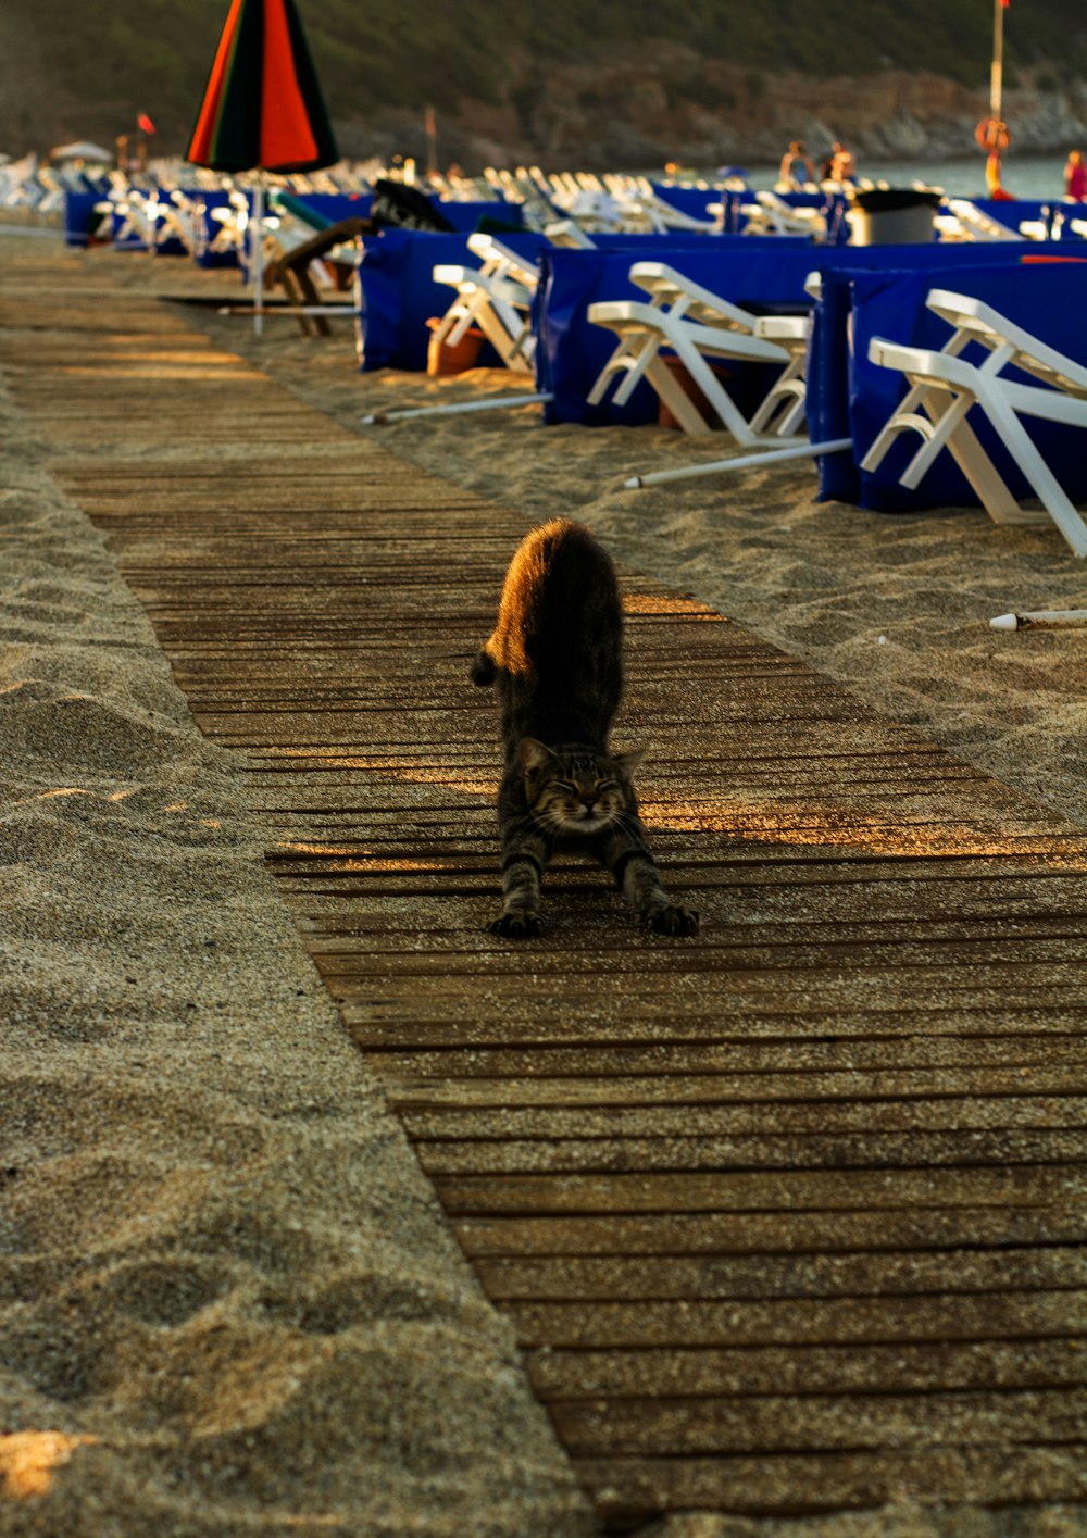
[[[646,378],[684,432],[710,432],[712,421],[706,420],[661,357],[661,349],[669,349],[701,389],[712,415],[738,443],[752,446],[763,441],[763,435],[744,420],[706,360],[741,358],[780,363],[787,369],[793,361],[789,349],[780,341],[756,335],[756,315],[712,294],[663,261],[635,261],[630,281],[646,289],[649,303],[607,300],[589,306],[589,320],[615,331],[620,338],[589,392],[589,404],[600,404],[612,381],[621,377],[613,397],[621,406],[630,398],[638,380]]]

